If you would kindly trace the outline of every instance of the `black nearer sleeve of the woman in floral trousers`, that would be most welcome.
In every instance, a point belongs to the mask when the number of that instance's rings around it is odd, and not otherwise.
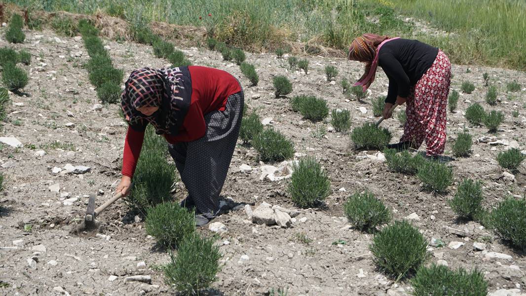
[[[392,96],[394,96],[391,91],[391,85],[393,83],[396,83],[397,95],[402,98],[407,98],[409,96],[410,81],[400,62],[398,62],[391,53],[381,53],[378,56],[378,62],[383,72],[385,72],[389,78],[389,91],[386,101],[388,103],[391,103],[391,100],[393,103],[396,101],[396,97],[394,99],[392,98]]]

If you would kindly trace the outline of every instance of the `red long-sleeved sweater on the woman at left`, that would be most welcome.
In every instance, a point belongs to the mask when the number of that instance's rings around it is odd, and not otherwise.
[[[211,111],[225,110],[228,96],[241,91],[236,78],[229,73],[208,67],[189,66],[192,96],[188,113],[176,136],[164,135],[171,144],[189,142],[205,135],[205,115]],[[123,176],[133,177],[140,150],[143,147],[144,132],[128,127],[124,141]]]

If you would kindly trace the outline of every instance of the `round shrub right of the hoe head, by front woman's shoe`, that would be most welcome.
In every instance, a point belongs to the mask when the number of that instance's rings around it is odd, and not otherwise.
[[[146,210],[146,233],[165,248],[175,248],[195,232],[194,212],[178,202],[163,202]]]

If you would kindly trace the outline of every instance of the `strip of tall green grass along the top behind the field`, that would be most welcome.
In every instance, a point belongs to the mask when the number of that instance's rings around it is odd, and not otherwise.
[[[129,22],[205,26],[232,46],[274,50],[286,41],[345,50],[362,33],[418,38],[454,63],[526,69],[523,0],[9,0],[45,11],[104,12]],[[400,16],[401,15],[401,16]],[[449,34],[422,32],[406,17]],[[418,22],[417,22],[418,23]],[[308,50],[307,50],[308,51]]]

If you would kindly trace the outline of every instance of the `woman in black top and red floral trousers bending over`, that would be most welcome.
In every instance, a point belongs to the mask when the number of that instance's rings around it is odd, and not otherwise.
[[[402,38],[364,34],[353,40],[349,59],[366,63],[365,74],[355,86],[366,90],[382,67],[389,78],[383,117],[392,116],[392,106],[407,103],[403,136],[388,148],[418,149],[426,140],[426,154],[437,156],[446,145],[446,104],[451,64],[442,50]]]

